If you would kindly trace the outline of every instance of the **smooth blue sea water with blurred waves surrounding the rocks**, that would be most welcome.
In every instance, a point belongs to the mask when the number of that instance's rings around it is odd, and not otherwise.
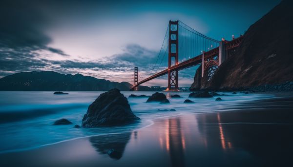
[[[0,91],[0,153],[33,149],[87,136],[122,133],[152,125],[153,120],[181,114],[232,110],[248,101],[272,98],[268,94],[218,92],[222,101],[213,98],[188,98],[191,92],[163,92],[170,104],[146,103],[147,98],[128,98],[130,94],[151,95],[154,92],[122,92],[134,114],[141,118],[136,124],[73,128],[81,125],[87,107],[103,92],[68,91],[54,95],[51,91]],[[181,98],[171,98],[178,94]],[[184,104],[186,99],[195,103]],[[159,111],[159,110],[168,111]],[[176,111],[170,111],[175,109]],[[72,125],[53,125],[66,118]]]

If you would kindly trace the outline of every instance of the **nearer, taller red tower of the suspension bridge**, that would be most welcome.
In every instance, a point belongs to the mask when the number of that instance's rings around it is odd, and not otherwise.
[[[178,64],[178,22],[178,20],[169,21],[168,87],[166,91],[179,91],[178,70],[169,70],[172,65]]]

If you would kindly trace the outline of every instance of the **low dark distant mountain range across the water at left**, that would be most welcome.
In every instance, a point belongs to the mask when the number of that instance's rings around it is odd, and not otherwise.
[[[111,82],[81,74],[60,74],[53,71],[21,72],[0,79],[0,90],[43,90],[43,91],[106,91],[118,88],[129,91],[132,84]],[[140,86],[142,91],[156,91]]]

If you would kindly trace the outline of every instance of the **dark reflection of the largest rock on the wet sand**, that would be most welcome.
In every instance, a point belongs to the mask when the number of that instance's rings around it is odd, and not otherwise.
[[[111,134],[104,136],[90,137],[91,145],[101,154],[108,154],[110,158],[119,160],[122,158],[126,144],[131,133]]]

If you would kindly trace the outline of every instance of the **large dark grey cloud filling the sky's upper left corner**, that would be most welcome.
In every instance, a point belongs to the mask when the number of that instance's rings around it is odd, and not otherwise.
[[[38,5],[23,0],[4,0],[0,5],[0,22],[0,48],[27,53],[45,49],[68,56],[60,49],[47,47],[52,40],[44,32],[50,21]]]

